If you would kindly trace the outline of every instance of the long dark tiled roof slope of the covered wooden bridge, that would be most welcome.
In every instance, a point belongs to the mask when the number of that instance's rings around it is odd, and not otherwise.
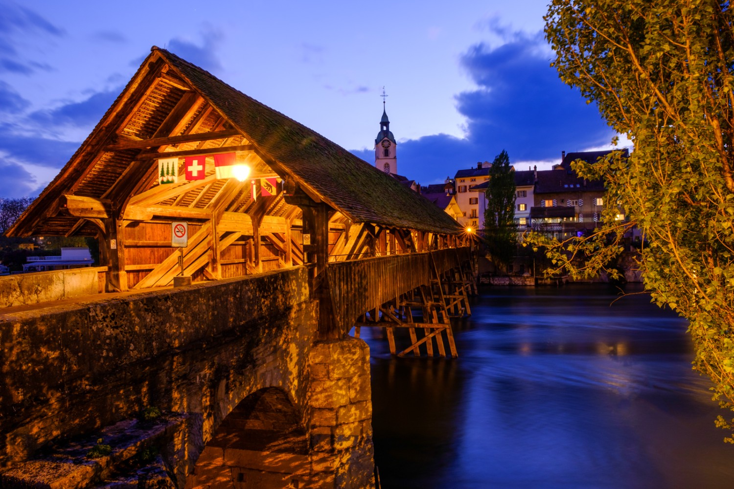
[[[429,232],[461,232],[446,213],[319,133],[254,100],[200,67],[153,48],[261,154],[357,222]],[[155,53],[154,53],[155,54]]]

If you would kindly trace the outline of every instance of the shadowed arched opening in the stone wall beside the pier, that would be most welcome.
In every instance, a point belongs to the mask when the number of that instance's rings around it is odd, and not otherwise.
[[[253,392],[222,419],[186,488],[298,488],[310,471],[308,436],[277,387]]]

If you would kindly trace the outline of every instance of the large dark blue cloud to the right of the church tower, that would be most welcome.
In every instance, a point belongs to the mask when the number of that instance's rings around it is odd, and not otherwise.
[[[492,161],[503,149],[517,163],[560,159],[562,150],[608,146],[614,131],[595,104],[586,104],[577,89],[560,81],[541,34],[499,28],[495,34],[506,42],[496,48],[473,45],[461,58],[477,85],[456,96],[457,110],[467,121],[465,138],[437,134],[399,141],[400,174],[431,183],[478,161]],[[399,137],[399,121],[394,122]],[[372,150],[354,153],[374,161]]]

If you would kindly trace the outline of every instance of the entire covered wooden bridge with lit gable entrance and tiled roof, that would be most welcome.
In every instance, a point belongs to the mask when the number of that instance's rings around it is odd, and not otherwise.
[[[238,165],[249,170],[241,180]],[[188,227],[181,253],[175,222]],[[97,238],[102,292],[308,265],[321,337],[387,320],[410,329],[404,353],[425,343],[432,354],[473,284],[472,237],[442,210],[156,47],[8,234]]]

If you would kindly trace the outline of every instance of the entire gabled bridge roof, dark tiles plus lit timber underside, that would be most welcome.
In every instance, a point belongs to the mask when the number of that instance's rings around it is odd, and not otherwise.
[[[90,136],[8,234],[95,235],[90,216],[121,215],[128,204],[137,204],[138,213],[153,204],[196,213],[215,199],[226,199],[223,210],[247,213],[255,205],[246,198],[249,184],[211,174],[206,180],[166,185],[179,187],[178,193],[168,200],[161,197],[157,158],[225,150],[254,152],[256,174],[275,172],[294,180],[311,199],[352,222],[453,235],[462,231],[423,196],[338,144],[154,46]],[[181,194],[181,185],[191,191]],[[153,190],[161,198],[147,199]],[[67,211],[75,205],[84,207],[86,220]],[[282,199],[278,205],[284,206]],[[221,203],[217,207],[222,210]],[[162,207],[149,210],[157,208]],[[277,212],[267,210],[271,216]]]

